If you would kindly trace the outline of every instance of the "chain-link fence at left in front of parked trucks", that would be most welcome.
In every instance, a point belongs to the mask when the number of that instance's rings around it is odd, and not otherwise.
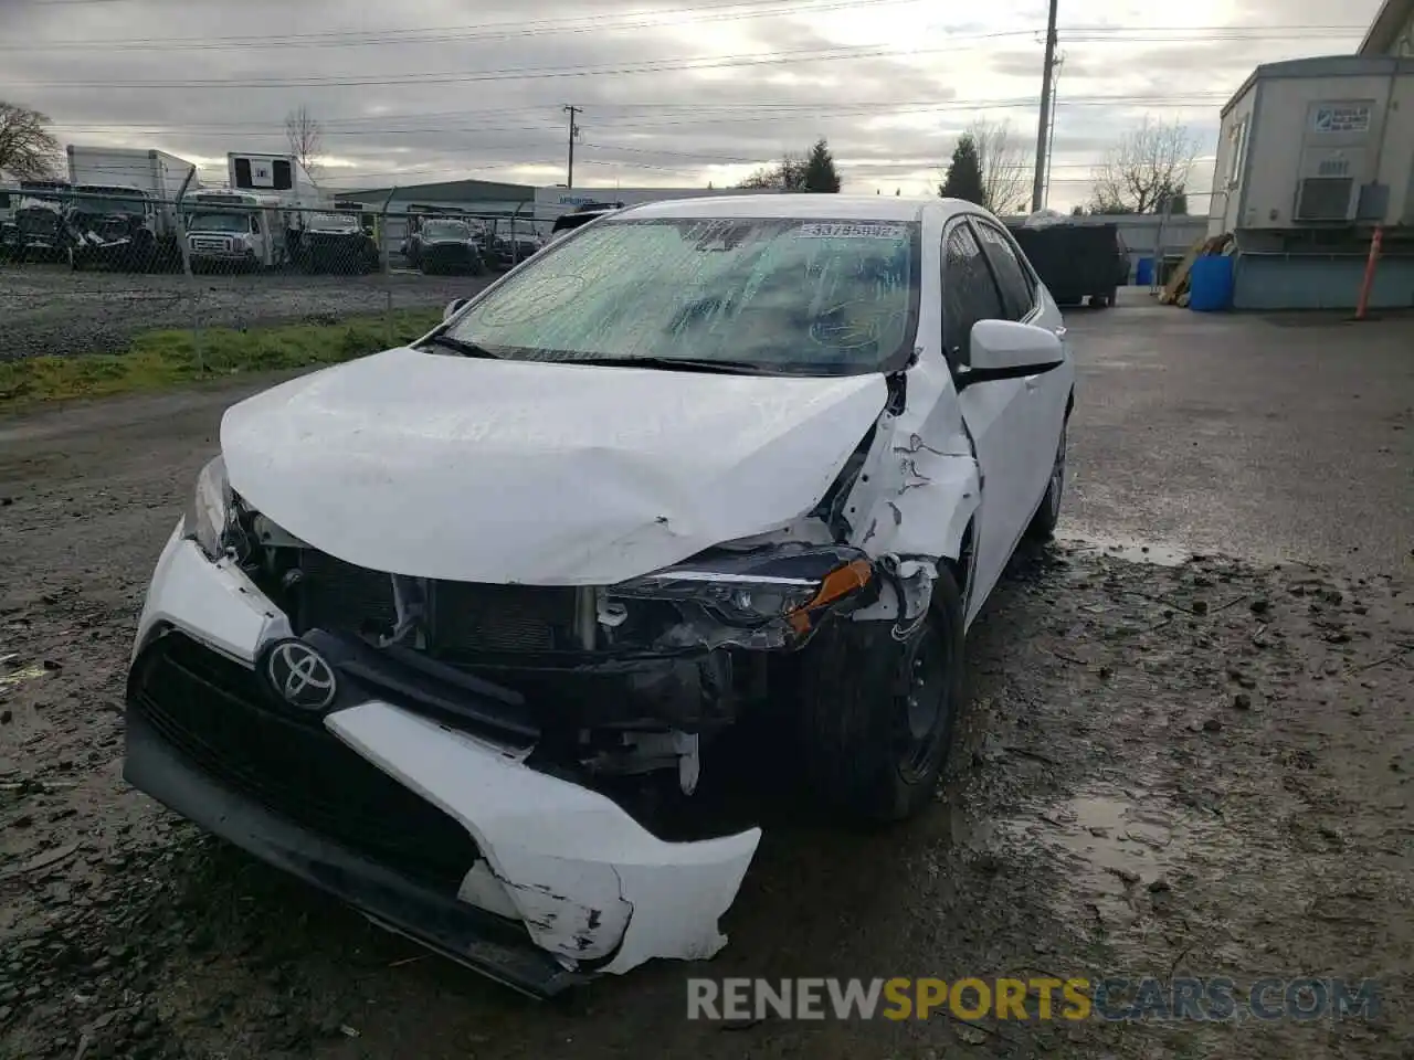
[[[129,355],[160,336],[205,375],[239,367],[216,356],[232,332],[304,343],[310,363],[372,352],[537,253],[549,225],[530,212],[0,189],[0,362]]]

